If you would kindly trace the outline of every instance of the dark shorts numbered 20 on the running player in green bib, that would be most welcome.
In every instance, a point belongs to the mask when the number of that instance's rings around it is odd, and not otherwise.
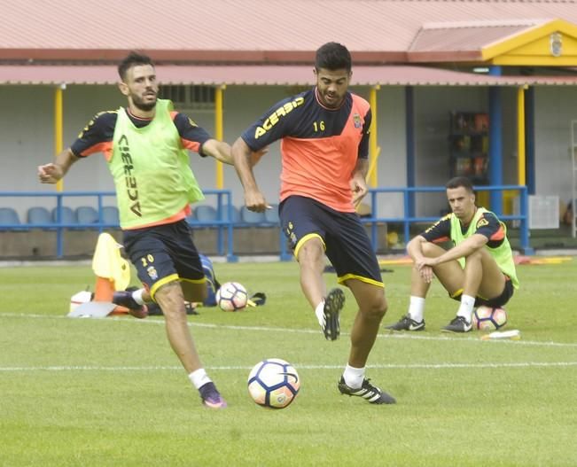
[[[199,252],[185,220],[124,230],[123,234],[126,253],[152,298],[160,286],[178,279],[193,284],[205,282]]]

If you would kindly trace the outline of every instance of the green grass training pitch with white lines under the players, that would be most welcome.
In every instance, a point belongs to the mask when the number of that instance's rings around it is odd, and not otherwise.
[[[386,268],[392,323],[406,311],[409,267]],[[575,260],[519,266],[505,328],[519,329],[519,341],[442,334],[456,302],[433,284],[427,331],[383,330],[370,357],[367,376],[394,406],[337,391],[349,292],[343,334],[327,342],[295,263],[215,269],[268,296],[264,307],[189,317],[229,402],[221,411],[200,405],[160,317],[66,318],[70,297],[93,284],[89,266],[0,268],[0,466],[577,465]],[[248,396],[248,372],[265,357],[300,373],[287,409]]]

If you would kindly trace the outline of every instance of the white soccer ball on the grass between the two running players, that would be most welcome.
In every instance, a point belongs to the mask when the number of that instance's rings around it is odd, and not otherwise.
[[[300,377],[291,363],[268,358],[254,365],[248,375],[248,393],[257,404],[285,409],[299,393]]]

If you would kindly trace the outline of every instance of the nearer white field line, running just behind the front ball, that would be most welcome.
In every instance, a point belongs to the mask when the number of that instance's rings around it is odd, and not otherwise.
[[[299,370],[342,370],[339,365],[308,365],[295,363]],[[503,369],[503,368],[569,368],[577,367],[577,362],[511,362],[511,363],[383,363],[367,365],[368,369],[377,370],[467,370],[467,369]],[[251,370],[251,366],[232,365],[207,367],[207,370]],[[101,367],[101,366],[35,366],[35,367],[0,367],[0,372],[24,371],[182,371],[180,366],[149,366],[149,367]]]

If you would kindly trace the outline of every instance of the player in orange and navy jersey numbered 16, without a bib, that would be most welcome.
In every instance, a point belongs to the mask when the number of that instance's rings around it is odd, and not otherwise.
[[[326,43],[316,51],[314,73],[316,87],[273,105],[233,144],[232,155],[246,207],[263,212],[268,204],[254,179],[251,152],[282,140],[281,227],[299,261],[300,286],[325,338],[339,337],[345,302],[341,289],[326,292],[325,253],[339,284],[347,285],[359,307],[339,391],[390,404],[394,398],[364,377],[386,313],[378,261],[355,214],[355,204],[367,192],[370,107],[347,91],[351,57],[343,45]]]

